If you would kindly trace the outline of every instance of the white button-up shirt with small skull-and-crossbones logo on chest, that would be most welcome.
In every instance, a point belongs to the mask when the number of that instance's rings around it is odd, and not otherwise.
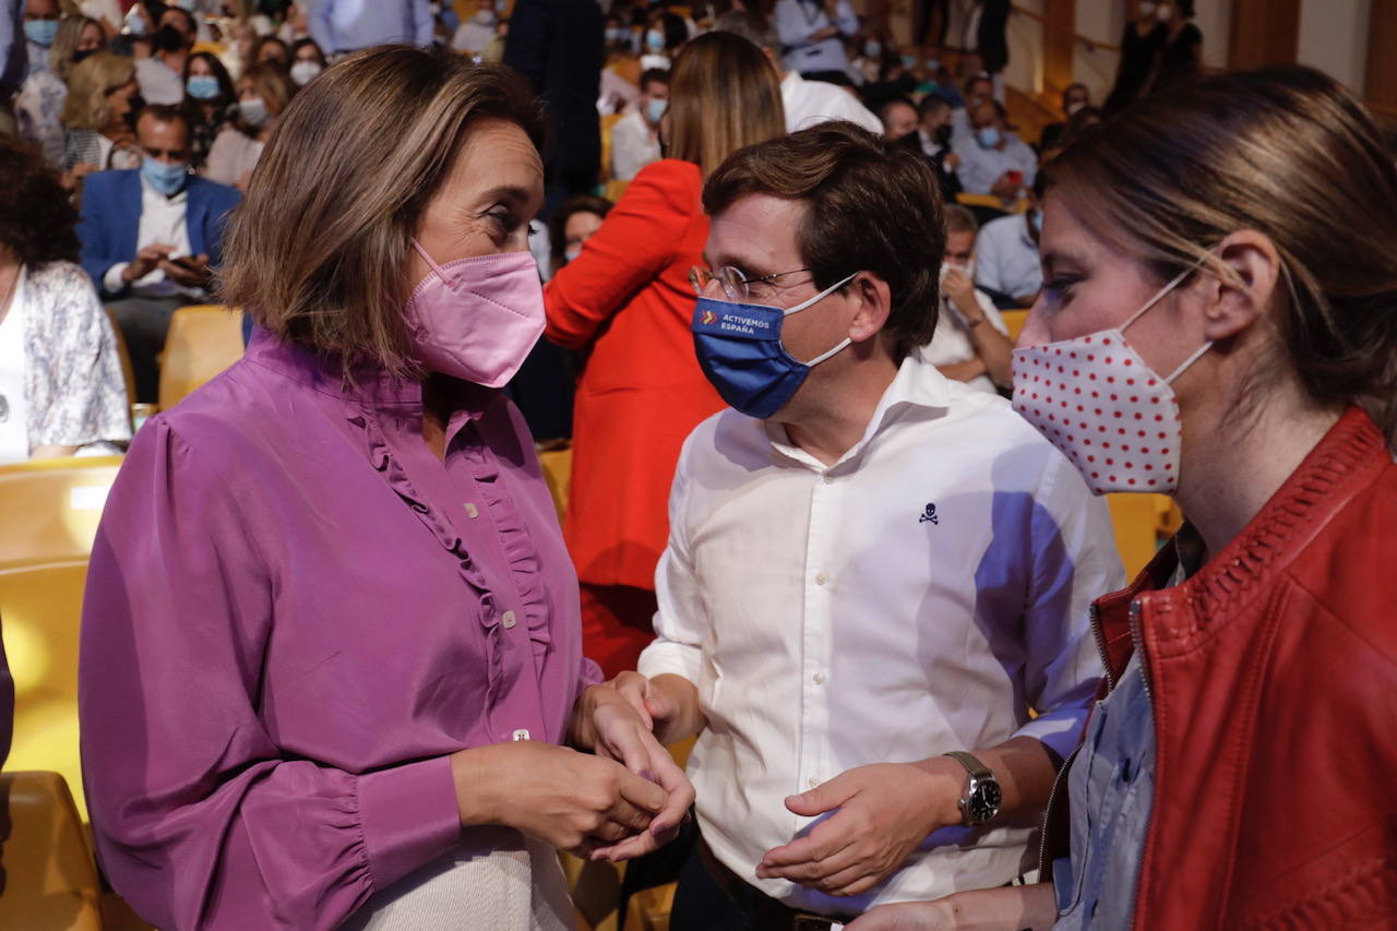
[[[813,823],[782,800],[848,769],[1017,734],[1076,745],[1102,674],[1088,604],[1123,572],[1105,502],[1007,401],[912,352],[830,467],[775,421],[722,411],[685,442],[669,527],[640,671],[698,689],[689,774],[718,860],[823,914],[1031,865],[1028,826],[951,826],[863,896],[754,876]]]

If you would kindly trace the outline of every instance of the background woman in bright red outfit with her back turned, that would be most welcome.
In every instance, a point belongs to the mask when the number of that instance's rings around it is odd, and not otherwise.
[[[704,264],[708,238],[703,180],[729,154],[784,131],[781,85],[761,52],[728,32],[694,39],[669,85],[669,157],[636,176],[545,291],[548,338],[588,354],[563,534],[583,586],[584,647],[608,675],[636,668],[654,637],[679,446],[722,408],[689,330],[689,270]]]

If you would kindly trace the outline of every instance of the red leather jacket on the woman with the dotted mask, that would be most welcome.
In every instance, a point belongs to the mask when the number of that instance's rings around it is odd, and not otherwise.
[[[1154,709],[1133,927],[1397,928],[1397,464],[1382,433],[1350,410],[1165,589],[1175,565],[1166,547],[1094,612],[1108,685],[1143,650]]]

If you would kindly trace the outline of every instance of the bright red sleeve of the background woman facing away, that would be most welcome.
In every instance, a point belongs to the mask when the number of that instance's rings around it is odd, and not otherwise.
[[[597,331],[675,259],[689,225],[701,218],[697,190],[682,172],[697,169],[666,159],[647,165],[626,187],[581,254],[543,288],[548,338],[569,349],[588,345]]]

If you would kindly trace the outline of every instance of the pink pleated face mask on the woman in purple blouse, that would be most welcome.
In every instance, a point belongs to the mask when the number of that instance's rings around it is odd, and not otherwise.
[[[527,252],[457,259],[439,266],[408,298],[404,317],[416,358],[432,372],[503,387],[543,334],[543,287]]]

